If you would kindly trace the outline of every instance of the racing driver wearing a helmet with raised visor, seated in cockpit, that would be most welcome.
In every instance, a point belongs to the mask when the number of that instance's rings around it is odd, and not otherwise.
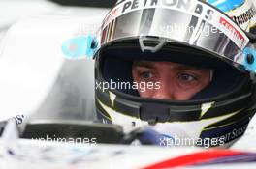
[[[218,7],[119,1],[95,54],[95,83],[109,87],[96,87],[98,118],[125,131],[150,127],[177,146],[238,140],[256,111],[255,38]]]

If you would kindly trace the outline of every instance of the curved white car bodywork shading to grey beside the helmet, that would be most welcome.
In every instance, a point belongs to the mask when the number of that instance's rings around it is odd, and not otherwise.
[[[75,109],[93,107],[87,101],[88,98],[93,101],[94,95],[93,61],[67,60],[61,47],[69,39],[94,34],[108,10],[64,8],[61,13],[17,21],[2,39],[0,120],[24,118],[39,109],[60,114],[52,111],[71,107],[80,113],[83,110]],[[64,107],[76,94],[80,94],[77,105]],[[39,114],[48,117],[47,113]]]

